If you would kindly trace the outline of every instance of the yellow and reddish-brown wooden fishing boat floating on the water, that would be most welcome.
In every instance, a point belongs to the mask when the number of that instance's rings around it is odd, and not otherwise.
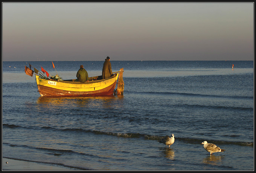
[[[123,95],[123,68],[113,76],[102,79],[102,76],[89,77],[88,82],[75,82],[75,79],[54,80],[35,75],[38,91],[41,96],[113,96]],[[115,90],[117,85],[117,89]]]

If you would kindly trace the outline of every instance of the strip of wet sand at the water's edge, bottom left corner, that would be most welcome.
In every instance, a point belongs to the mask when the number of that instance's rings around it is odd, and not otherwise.
[[[2,158],[2,170],[74,170],[61,166]]]

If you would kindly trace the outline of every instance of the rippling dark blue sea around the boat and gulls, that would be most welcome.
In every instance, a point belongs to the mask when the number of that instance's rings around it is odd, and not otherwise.
[[[41,97],[24,72],[76,79],[84,65],[99,76],[104,61],[2,62],[2,157],[70,170],[254,170],[253,61],[110,62],[124,70],[123,96]],[[170,147],[158,142],[171,134]]]

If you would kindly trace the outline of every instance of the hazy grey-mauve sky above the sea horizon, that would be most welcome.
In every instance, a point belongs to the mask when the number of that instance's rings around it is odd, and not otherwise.
[[[254,3],[2,3],[2,61],[254,60]]]

